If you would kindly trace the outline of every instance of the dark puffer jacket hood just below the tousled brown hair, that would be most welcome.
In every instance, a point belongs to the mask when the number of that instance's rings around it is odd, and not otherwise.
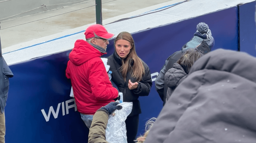
[[[167,86],[169,88],[175,88],[184,76],[187,76],[185,70],[178,63],[173,64],[173,68],[169,69],[165,74],[165,79],[167,80]]]

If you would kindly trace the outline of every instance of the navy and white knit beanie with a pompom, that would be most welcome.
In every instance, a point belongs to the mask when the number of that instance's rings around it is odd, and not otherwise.
[[[215,41],[211,35],[211,30],[209,29],[209,26],[206,23],[201,22],[196,25],[196,29],[197,31],[194,34],[194,36],[198,36],[204,39],[207,45],[209,46],[209,48],[211,49],[214,46]]]

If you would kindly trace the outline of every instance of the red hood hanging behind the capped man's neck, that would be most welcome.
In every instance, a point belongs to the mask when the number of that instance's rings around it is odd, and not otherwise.
[[[69,60],[74,65],[81,65],[88,60],[96,57],[101,57],[106,53],[101,53],[98,49],[94,48],[85,40],[77,40],[74,49],[69,54]]]

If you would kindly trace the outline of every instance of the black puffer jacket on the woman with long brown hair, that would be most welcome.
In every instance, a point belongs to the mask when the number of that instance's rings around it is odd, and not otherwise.
[[[123,93],[123,101],[124,102],[133,102],[132,112],[129,116],[138,115],[141,113],[140,102],[138,100],[139,96],[148,96],[151,86],[151,74],[149,67],[146,63],[143,62],[145,68],[145,75],[142,77],[142,80],[138,82],[138,88],[130,90],[128,88],[129,79],[131,82],[136,82],[135,78],[131,77],[130,73],[127,73],[126,82],[124,82],[123,76],[120,72],[120,68],[122,66],[121,58],[118,56],[116,52],[110,55],[108,58],[107,65],[110,66],[109,70],[112,71],[112,81],[116,84],[119,91]],[[128,117],[129,117],[128,116]]]

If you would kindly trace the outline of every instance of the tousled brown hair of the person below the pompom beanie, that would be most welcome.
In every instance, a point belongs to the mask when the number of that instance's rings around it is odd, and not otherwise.
[[[190,68],[203,54],[197,48],[187,49],[181,58],[177,61],[180,64],[185,72],[188,74]]]

